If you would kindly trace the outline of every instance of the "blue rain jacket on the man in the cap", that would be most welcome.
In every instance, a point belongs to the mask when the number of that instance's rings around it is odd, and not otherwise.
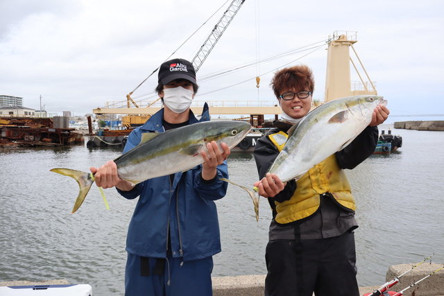
[[[140,143],[142,133],[164,132],[163,111],[160,110],[130,133],[123,153]],[[189,124],[209,120],[210,114],[205,103],[200,120],[191,112]],[[159,164],[159,169],[162,169],[162,164]],[[201,171],[202,165],[199,165],[189,171],[176,173],[172,183],[167,175],[139,183],[131,191],[117,189],[124,198],[139,196],[128,227],[128,252],[138,256],[165,258],[168,239],[171,239],[172,256],[183,256],[184,261],[203,259],[221,252],[214,200],[225,196],[228,184],[219,178],[228,178],[228,166],[226,162],[218,166],[216,178],[211,181],[203,180],[200,177]]]

